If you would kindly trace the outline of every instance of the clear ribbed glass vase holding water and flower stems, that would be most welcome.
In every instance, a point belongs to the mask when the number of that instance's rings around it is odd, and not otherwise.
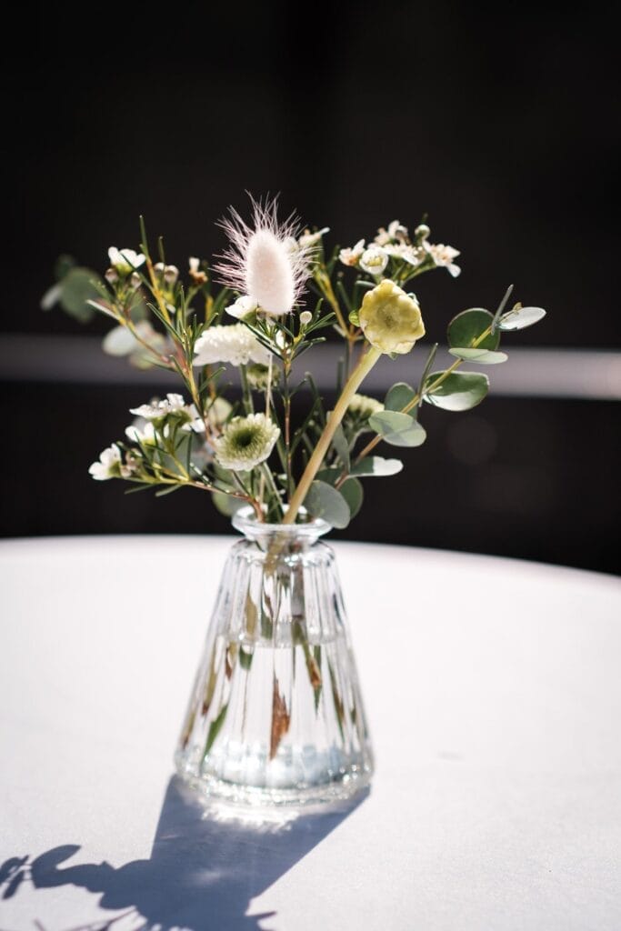
[[[183,723],[177,770],[234,803],[347,798],[372,772],[358,674],[323,520],[259,523],[231,549]]]

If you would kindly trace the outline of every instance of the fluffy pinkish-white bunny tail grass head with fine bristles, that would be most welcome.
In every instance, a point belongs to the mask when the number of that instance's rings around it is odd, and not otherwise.
[[[299,223],[292,216],[278,223],[276,198],[251,203],[251,226],[233,208],[231,219],[221,222],[231,245],[215,269],[224,285],[247,294],[266,314],[281,317],[300,300],[314,250],[299,241],[297,249],[290,249]]]

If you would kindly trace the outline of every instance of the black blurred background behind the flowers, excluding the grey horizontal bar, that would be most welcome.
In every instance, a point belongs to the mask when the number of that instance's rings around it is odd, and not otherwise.
[[[109,245],[137,247],[143,213],[183,268],[222,249],[214,220],[248,189],[281,192],[283,212],[344,245],[428,212],[464,269],[416,289],[431,339],[513,281],[548,316],[511,343],[618,346],[612,7],[85,10],[34,7],[7,41],[0,330],[84,332],[39,309],[61,251],[103,270]],[[0,371],[6,535],[226,528],[207,496],[125,497],[88,478],[154,378],[111,388]],[[398,479],[367,482],[344,535],[614,571],[617,423],[613,402],[579,397],[427,412],[425,447]]]

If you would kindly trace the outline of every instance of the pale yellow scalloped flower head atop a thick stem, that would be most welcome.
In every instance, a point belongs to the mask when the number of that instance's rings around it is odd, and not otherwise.
[[[358,314],[367,340],[383,353],[407,353],[425,336],[421,308],[413,294],[406,294],[385,278],[367,291]]]

